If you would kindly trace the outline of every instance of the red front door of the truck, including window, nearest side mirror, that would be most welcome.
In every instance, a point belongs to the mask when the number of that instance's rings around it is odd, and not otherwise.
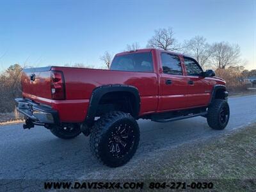
[[[211,97],[211,85],[202,76],[203,70],[196,60],[184,57],[188,93],[186,95],[188,107],[207,106]]]

